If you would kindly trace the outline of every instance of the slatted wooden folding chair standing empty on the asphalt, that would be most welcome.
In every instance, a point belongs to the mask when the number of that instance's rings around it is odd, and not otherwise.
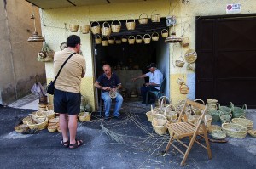
[[[201,117],[196,125],[188,121],[187,115],[185,113],[185,110],[188,109],[188,105],[201,110]],[[181,161],[180,166],[184,166],[185,161],[187,160],[187,157],[189,155],[189,151],[192,148],[194,142],[201,145],[204,149],[207,149],[208,157],[209,159],[212,159],[212,151],[210,149],[210,144],[207,137],[206,126],[203,121],[205,118],[206,110],[206,105],[199,104],[187,99],[186,103],[183,105],[182,111],[179,113],[178,121],[176,123],[166,124],[166,127],[170,132],[170,140],[166,146],[166,152],[168,151],[168,149],[170,149],[171,145],[173,146],[173,148],[177,149],[177,151],[183,155],[183,160]],[[195,139],[198,135],[202,135],[202,137],[205,138],[206,146],[199,143]],[[189,144],[185,144],[182,141],[185,137],[189,137]],[[186,151],[183,152],[177,147],[177,145],[172,144],[173,140],[177,140],[177,143],[182,144],[186,148]]]

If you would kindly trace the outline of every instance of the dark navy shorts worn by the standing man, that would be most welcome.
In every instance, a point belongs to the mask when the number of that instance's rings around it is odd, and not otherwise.
[[[70,93],[55,88],[55,113],[78,115],[80,113],[81,93]]]

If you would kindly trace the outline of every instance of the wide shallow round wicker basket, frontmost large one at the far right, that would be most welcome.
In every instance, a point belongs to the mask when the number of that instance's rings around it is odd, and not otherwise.
[[[222,128],[231,138],[245,138],[247,136],[247,127],[239,124],[225,122],[222,124]]]

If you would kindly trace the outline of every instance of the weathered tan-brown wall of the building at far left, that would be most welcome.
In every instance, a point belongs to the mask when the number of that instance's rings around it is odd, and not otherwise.
[[[30,19],[32,5],[26,1],[0,0],[0,104],[9,104],[30,93],[38,75],[45,83],[44,63],[37,61],[42,42],[27,42],[34,31]],[[37,31],[41,35],[38,8],[34,8]]]

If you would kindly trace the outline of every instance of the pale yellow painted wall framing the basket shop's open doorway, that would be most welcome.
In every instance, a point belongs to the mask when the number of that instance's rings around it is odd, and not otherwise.
[[[241,13],[256,13],[256,6],[253,5],[255,0],[241,1]],[[179,43],[168,44],[170,48],[170,96],[172,102],[177,104],[178,100],[189,97],[195,99],[195,72],[186,70],[186,65],[183,68],[174,66],[175,60],[185,54],[189,48],[195,49],[195,16],[218,15],[225,14],[225,7],[229,3],[237,3],[234,0],[193,0],[189,3],[182,3],[180,0],[172,0],[169,6],[169,0],[159,1],[143,1],[137,3],[110,3],[108,5],[84,6],[73,8],[57,8],[44,10],[42,17],[44,19],[44,33],[47,37],[47,43],[55,51],[59,49],[61,42],[65,42],[68,35],[72,34],[65,31],[64,23],[68,23],[76,19],[80,23],[89,23],[89,21],[102,20],[126,20],[132,17],[138,19],[143,12],[148,14],[150,18],[154,9],[161,14],[162,17],[175,15],[177,17],[177,25],[175,31],[177,36],[189,37],[189,47],[182,48]],[[239,29],[239,28],[238,28]],[[173,28],[171,28],[171,31]],[[79,35],[79,33],[75,33]],[[86,59],[87,71],[82,81],[82,94],[89,100],[90,104],[94,105],[94,89],[93,82],[93,59],[91,54],[91,38],[90,34],[80,34],[83,47],[82,51]],[[46,76],[49,82],[53,78],[53,64],[46,64]],[[188,95],[179,93],[179,85],[177,78],[184,77],[185,82],[189,85],[190,92]]]

